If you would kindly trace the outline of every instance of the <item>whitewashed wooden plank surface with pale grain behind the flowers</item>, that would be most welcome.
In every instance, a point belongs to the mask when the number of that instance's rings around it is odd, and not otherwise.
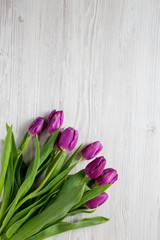
[[[54,108],[119,181],[93,214],[110,222],[50,239],[159,240],[159,0],[0,0],[0,137]]]

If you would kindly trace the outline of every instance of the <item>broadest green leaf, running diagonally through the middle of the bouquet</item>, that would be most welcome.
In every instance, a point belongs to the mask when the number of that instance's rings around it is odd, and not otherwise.
[[[84,191],[84,185],[58,194],[53,203],[40,214],[27,221],[11,240],[25,240],[39,232],[49,222],[56,222],[66,216],[70,209],[80,201]],[[64,207],[65,206],[65,207]]]

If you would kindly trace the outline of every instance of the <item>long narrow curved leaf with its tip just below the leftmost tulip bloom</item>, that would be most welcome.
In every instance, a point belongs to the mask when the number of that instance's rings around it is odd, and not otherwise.
[[[35,159],[33,161],[32,171],[30,172],[30,175],[25,179],[25,181],[22,183],[21,187],[19,188],[10,209],[4,218],[2,227],[0,228],[0,233],[3,231],[3,229],[5,228],[5,226],[7,225],[7,223],[9,222],[9,220],[11,219],[15,211],[17,210],[16,206],[18,201],[29,191],[32,184],[34,183],[34,179],[36,177],[39,163],[40,163],[40,149],[39,149],[38,136],[36,135],[36,154],[35,154]]]

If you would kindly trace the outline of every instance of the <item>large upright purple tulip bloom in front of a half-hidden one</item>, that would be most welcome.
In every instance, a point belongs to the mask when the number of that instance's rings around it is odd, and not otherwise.
[[[66,128],[60,135],[58,145],[60,148],[72,151],[78,141],[78,131],[74,128]]]

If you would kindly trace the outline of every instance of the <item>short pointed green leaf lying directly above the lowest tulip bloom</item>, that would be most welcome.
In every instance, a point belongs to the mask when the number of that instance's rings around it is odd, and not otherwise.
[[[99,195],[100,193],[104,192],[107,188],[109,188],[112,184],[106,184],[106,185],[102,185],[102,186],[96,186],[93,189],[91,189],[90,191],[87,191],[84,193],[82,199],[80,200],[79,203],[77,203],[72,210],[78,208],[79,206],[81,206],[82,204],[86,203],[87,201],[91,200],[92,198],[95,198],[97,195]]]

